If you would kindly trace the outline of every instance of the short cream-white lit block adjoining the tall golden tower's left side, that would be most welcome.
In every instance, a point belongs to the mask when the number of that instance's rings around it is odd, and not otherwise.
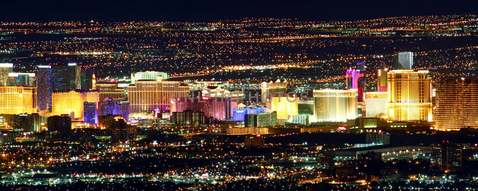
[[[364,92],[364,97],[362,111],[365,111],[365,117],[373,117],[379,114],[387,115],[387,92]]]

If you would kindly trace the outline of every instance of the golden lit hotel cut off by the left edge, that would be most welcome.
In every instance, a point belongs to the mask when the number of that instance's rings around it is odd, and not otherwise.
[[[36,87],[0,86],[0,113],[36,113]]]

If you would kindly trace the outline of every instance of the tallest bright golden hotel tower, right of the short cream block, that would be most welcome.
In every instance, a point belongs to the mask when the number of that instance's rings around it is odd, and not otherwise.
[[[387,75],[391,121],[433,121],[428,70],[391,70]]]

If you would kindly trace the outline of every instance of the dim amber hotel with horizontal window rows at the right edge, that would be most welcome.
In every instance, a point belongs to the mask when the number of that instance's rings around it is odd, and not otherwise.
[[[478,128],[478,79],[441,79],[435,85],[435,127]]]

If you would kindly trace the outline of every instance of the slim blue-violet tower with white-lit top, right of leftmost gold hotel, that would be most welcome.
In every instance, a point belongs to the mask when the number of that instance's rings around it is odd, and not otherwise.
[[[52,108],[52,67],[50,65],[38,65],[36,69],[36,85],[38,109],[48,111]]]

